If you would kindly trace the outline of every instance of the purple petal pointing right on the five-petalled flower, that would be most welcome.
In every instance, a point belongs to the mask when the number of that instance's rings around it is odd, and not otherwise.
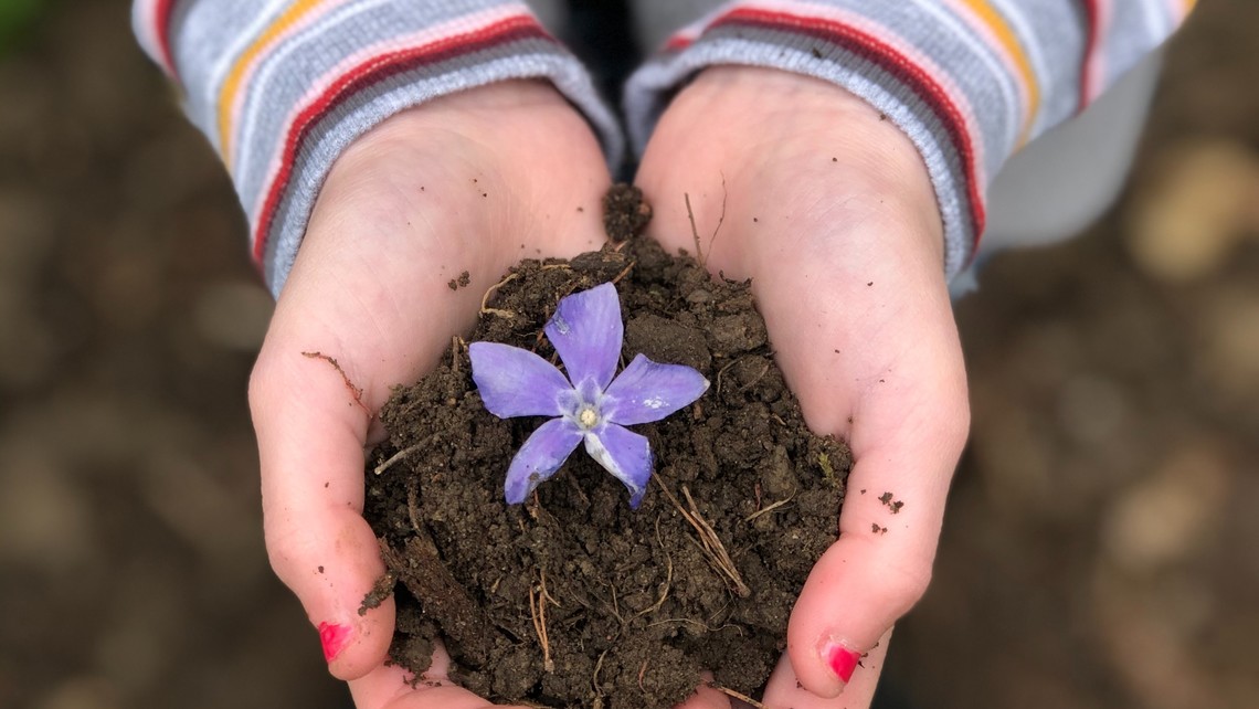
[[[685,364],[658,364],[638,355],[603,393],[603,417],[622,426],[660,421],[700,398],[708,387],[708,379]]]

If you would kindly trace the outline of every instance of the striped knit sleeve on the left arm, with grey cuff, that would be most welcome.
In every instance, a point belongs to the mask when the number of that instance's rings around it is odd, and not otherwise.
[[[424,101],[546,78],[619,160],[590,77],[519,1],[136,0],[132,24],[230,171],[276,295],[336,157]]]

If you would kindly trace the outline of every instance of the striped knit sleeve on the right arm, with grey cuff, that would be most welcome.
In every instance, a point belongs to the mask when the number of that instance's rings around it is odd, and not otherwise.
[[[744,0],[671,37],[626,87],[642,150],[669,97],[714,64],[840,84],[885,113],[927,164],[949,278],[976,251],[990,179],[1157,48],[1195,0]]]

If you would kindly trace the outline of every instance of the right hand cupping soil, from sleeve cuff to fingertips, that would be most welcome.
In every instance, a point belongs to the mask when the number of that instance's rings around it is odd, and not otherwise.
[[[672,101],[637,184],[669,251],[695,252],[690,195],[708,268],[753,280],[805,419],[852,448],[840,538],[796,603],[765,704],[867,706],[891,626],[930,578],[969,427],[925,165],[841,88],[720,67]],[[866,651],[832,699],[832,660],[842,671]]]

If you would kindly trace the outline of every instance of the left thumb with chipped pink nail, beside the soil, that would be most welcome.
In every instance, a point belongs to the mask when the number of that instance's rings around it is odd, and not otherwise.
[[[385,570],[361,516],[369,416],[330,360],[286,337],[268,345],[249,383],[267,552],[317,628],[329,670],[359,678],[385,660],[394,626],[392,597],[360,611]]]

